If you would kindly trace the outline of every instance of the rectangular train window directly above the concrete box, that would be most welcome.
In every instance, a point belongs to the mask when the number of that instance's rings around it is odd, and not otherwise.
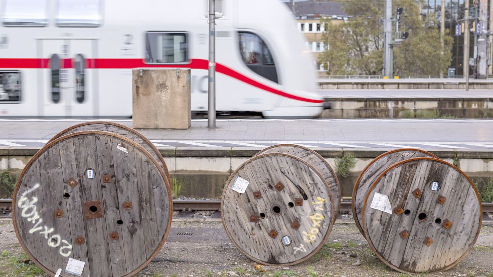
[[[177,64],[188,61],[187,34],[149,32],[145,37],[147,63]]]

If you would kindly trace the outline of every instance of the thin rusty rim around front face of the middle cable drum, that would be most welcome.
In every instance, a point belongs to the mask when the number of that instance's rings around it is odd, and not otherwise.
[[[266,265],[293,265],[293,264],[297,264],[297,263],[300,263],[300,262],[303,262],[303,261],[309,259],[312,255],[314,255],[316,252],[318,252],[318,250],[320,250],[320,248],[325,244],[325,241],[327,241],[328,236],[332,232],[332,227],[334,226],[334,224],[332,223],[332,219],[330,221],[331,224],[330,224],[330,226],[327,229],[327,233],[323,237],[323,239],[320,242],[320,244],[315,249],[313,249],[313,251],[311,251],[308,255],[306,255],[305,257],[303,257],[303,258],[301,258],[299,260],[296,260],[296,261],[293,261],[293,262],[287,262],[287,263],[268,263],[268,262],[265,262],[263,260],[259,260],[257,258],[252,257],[250,254],[248,254],[242,248],[240,248],[239,245],[235,242],[233,236],[229,233],[229,230],[228,230],[228,228],[226,226],[226,223],[225,223],[226,221],[224,219],[224,212],[223,212],[224,196],[226,195],[226,191],[227,191],[227,188],[229,187],[230,182],[233,180],[233,176],[235,176],[236,173],[238,173],[238,171],[240,171],[240,169],[243,166],[245,166],[246,164],[249,164],[249,163],[251,163],[254,160],[261,159],[261,158],[264,158],[264,157],[269,157],[269,156],[286,156],[286,157],[289,157],[289,158],[298,160],[301,163],[307,165],[310,169],[312,169],[316,174],[318,174],[320,180],[322,180],[323,184],[325,185],[325,188],[327,189],[327,192],[328,192],[328,197],[331,200],[331,208],[332,208],[332,210],[334,210],[334,197],[332,195],[332,191],[331,191],[330,188],[328,188],[327,182],[325,182],[325,180],[323,179],[322,175],[312,165],[310,165],[309,163],[305,162],[304,160],[302,160],[302,159],[300,159],[300,158],[298,158],[296,156],[293,156],[293,155],[284,154],[284,153],[267,153],[267,154],[259,154],[259,155],[253,156],[252,158],[248,159],[246,162],[244,162],[240,166],[238,166],[238,168],[233,173],[231,173],[231,175],[228,178],[228,181],[226,182],[226,184],[225,184],[225,186],[223,188],[223,194],[221,196],[221,221],[223,223],[224,230],[226,231],[226,234],[228,235],[228,237],[231,240],[231,242],[235,245],[236,249],[238,249],[242,254],[244,254],[248,258],[250,258],[250,259],[252,259],[252,260],[254,260],[254,261],[258,262],[258,263],[266,264]],[[334,215],[334,213],[332,213],[332,214]]]

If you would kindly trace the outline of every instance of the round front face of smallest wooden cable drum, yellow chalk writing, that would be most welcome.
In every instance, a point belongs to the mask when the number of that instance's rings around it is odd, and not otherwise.
[[[221,217],[233,244],[263,264],[290,265],[313,255],[332,230],[334,198],[321,174],[283,153],[255,156],[233,172]]]

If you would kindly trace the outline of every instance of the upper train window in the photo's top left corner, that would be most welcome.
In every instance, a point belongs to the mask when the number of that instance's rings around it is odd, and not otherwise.
[[[46,0],[5,0],[2,22],[6,27],[43,27],[48,25]]]

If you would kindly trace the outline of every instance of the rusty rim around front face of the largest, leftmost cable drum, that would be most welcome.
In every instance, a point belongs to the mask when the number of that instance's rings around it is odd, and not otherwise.
[[[168,178],[166,178],[166,174],[163,171],[162,167],[159,166],[159,164],[157,163],[156,159],[154,159],[154,157],[152,157],[152,155],[149,153],[149,151],[145,150],[141,145],[139,145],[138,143],[134,142],[131,139],[128,139],[128,138],[126,138],[124,136],[121,136],[121,135],[118,135],[118,134],[115,134],[115,133],[112,133],[112,132],[106,132],[106,131],[80,131],[80,132],[74,132],[74,133],[71,133],[71,134],[68,134],[68,135],[59,137],[59,138],[54,139],[54,140],[48,142],[47,144],[45,144],[45,146],[43,146],[43,148],[41,148],[38,152],[36,152],[36,154],[34,154],[34,156],[28,161],[28,163],[26,164],[26,166],[24,167],[24,169],[21,171],[21,174],[19,174],[19,178],[17,180],[16,187],[14,189],[14,193],[13,193],[13,196],[12,196],[12,221],[13,221],[13,224],[14,224],[14,230],[16,231],[16,236],[17,236],[17,238],[19,240],[19,243],[21,244],[21,246],[24,249],[24,251],[26,252],[26,254],[31,258],[31,260],[36,265],[38,265],[41,269],[43,269],[43,271],[45,271],[46,273],[48,273],[49,275],[55,275],[55,272],[53,272],[50,269],[46,268],[42,263],[40,263],[34,257],[34,255],[26,247],[26,244],[24,243],[24,241],[21,238],[21,235],[19,234],[19,230],[18,230],[18,226],[17,226],[17,222],[16,222],[16,215],[15,215],[15,206],[16,206],[15,203],[16,203],[16,198],[17,198],[17,191],[19,190],[19,186],[21,184],[21,181],[22,181],[22,179],[23,179],[24,174],[26,173],[26,171],[30,168],[30,166],[33,164],[33,162],[39,156],[41,156],[41,154],[44,153],[44,151],[48,150],[53,145],[55,145],[55,144],[57,144],[57,143],[59,143],[59,142],[61,142],[63,140],[66,140],[68,138],[74,137],[74,136],[78,136],[78,135],[98,135],[98,134],[99,135],[107,135],[107,136],[111,136],[111,137],[116,137],[118,139],[121,139],[123,141],[126,141],[127,143],[130,143],[131,145],[135,146],[138,150],[140,150],[142,153],[144,153],[154,163],[154,165],[156,166],[157,170],[159,171],[159,173],[163,177],[162,179],[165,181],[166,188],[168,190],[168,198],[169,198],[169,203],[170,203],[170,216],[169,216],[170,219],[168,220],[168,228],[166,229],[165,234],[163,234],[162,239],[159,242],[159,244],[156,246],[156,249],[154,250],[154,252],[152,252],[152,254],[150,254],[150,256],[140,266],[138,266],[137,268],[135,268],[133,271],[131,271],[131,272],[125,274],[125,275],[122,275],[121,277],[133,276],[137,272],[139,272],[140,270],[142,270],[145,266],[147,266],[152,261],[152,259],[157,255],[157,253],[161,249],[162,245],[165,244],[166,238],[168,237],[168,233],[170,232],[171,222],[172,222],[172,219],[173,219],[173,199],[172,199],[172,196],[171,196],[171,186],[170,186],[170,183],[168,182]],[[62,274],[63,274],[63,272],[62,272]]]

